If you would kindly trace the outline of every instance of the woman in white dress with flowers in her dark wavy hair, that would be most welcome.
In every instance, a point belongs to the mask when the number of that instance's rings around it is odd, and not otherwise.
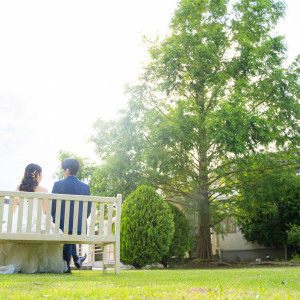
[[[36,164],[29,164],[17,191],[47,193],[47,190],[39,184],[42,180],[42,168]],[[14,200],[14,218],[12,232],[16,232],[18,211],[18,198]],[[32,231],[35,231],[37,215],[37,199],[33,202]],[[42,230],[45,228],[47,201],[43,200]],[[27,226],[28,201],[24,202],[22,231]],[[54,224],[52,224],[54,226]],[[5,231],[7,224],[3,223]],[[38,243],[0,243],[0,274],[11,273],[63,273],[67,270],[63,260],[62,244],[38,244]]]

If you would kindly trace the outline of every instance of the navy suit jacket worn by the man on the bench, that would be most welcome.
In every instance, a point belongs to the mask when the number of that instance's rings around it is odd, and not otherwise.
[[[54,183],[53,194],[70,194],[70,195],[91,195],[90,187],[80,181],[76,178],[76,176],[68,176],[67,178],[63,180],[59,180]],[[61,213],[60,213],[60,229],[64,230],[64,224],[65,224],[65,200],[61,201]],[[88,211],[87,211],[87,217],[91,213],[91,207],[92,203],[88,203]],[[77,227],[77,234],[81,234],[81,228],[82,228],[82,210],[83,210],[83,202],[79,202],[79,211],[78,211],[78,227]],[[53,199],[52,201],[52,209],[51,209],[51,215],[53,217],[53,222],[55,222],[56,218],[56,200]],[[73,232],[73,218],[74,218],[74,201],[70,202],[70,214],[69,214],[69,234],[72,234]]]

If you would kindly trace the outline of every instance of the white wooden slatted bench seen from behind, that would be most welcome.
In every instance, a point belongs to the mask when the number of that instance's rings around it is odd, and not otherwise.
[[[14,199],[19,199],[18,214],[13,213]],[[9,204],[5,204],[5,198],[9,199]],[[33,200],[38,199],[36,227],[32,231]],[[47,199],[47,214],[45,226],[42,229],[42,203]],[[55,227],[51,230],[51,207],[52,199],[56,199],[56,220]],[[65,222],[63,233],[60,231],[60,212],[61,203],[65,201]],[[27,227],[22,229],[22,215],[24,201],[28,201]],[[74,222],[73,234],[68,234],[70,202],[74,201]],[[83,220],[81,235],[77,234],[79,202],[83,202]],[[91,214],[89,217],[90,225],[88,230],[87,209],[91,202]],[[5,206],[8,211],[5,214]],[[103,273],[107,272],[108,267],[114,267],[115,273],[120,273],[120,223],[121,223],[122,195],[117,197],[98,197],[98,196],[78,196],[63,194],[43,194],[29,192],[9,192],[0,191],[0,242],[13,241],[17,243],[62,243],[62,244],[96,244],[103,249]],[[99,209],[99,210],[98,210]],[[115,224],[113,230],[113,212],[115,210]],[[97,211],[99,214],[97,214]],[[14,223],[17,228],[13,230]],[[5,230],[3,222],[5,220]],[[105,221],[104,221],[105,220]],[[104,230],[104,222],[107,229]],[[87,232],[87,233],[86,233]],[[95,232],[97,234],[95,234]],[[115,263],[107,263],[106,246],[114,244]]]

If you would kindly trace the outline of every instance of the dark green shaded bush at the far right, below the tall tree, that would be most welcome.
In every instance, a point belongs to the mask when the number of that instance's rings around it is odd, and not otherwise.
[[[287,245],[290,224],[300,226],[296,170],[266,170],[245,176],[237,201],[238,224],[245,239],[266,247]]]

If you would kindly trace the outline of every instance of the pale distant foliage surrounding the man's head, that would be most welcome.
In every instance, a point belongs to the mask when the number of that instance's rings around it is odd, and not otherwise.
[[[74,153],[65,151],[65,150],[60,150],[58,152],[57,157],[60,162],[60,165],[58,167],[58,171],[53,175],[54,178],[59,179],[59,180],[63,179],[64,176],[63,176],[63,173],[61,170],[61,163],[68,158],[75,158],[79,161],[79,164],[80,164],[80,168],[79,168],[79,171],[78,171],[76,177],[79,180],[82,180],[85,182],[90,181],[91,176],[96,169],[96,166],[92,162],[90,162],[88,158],[77,156]]]

